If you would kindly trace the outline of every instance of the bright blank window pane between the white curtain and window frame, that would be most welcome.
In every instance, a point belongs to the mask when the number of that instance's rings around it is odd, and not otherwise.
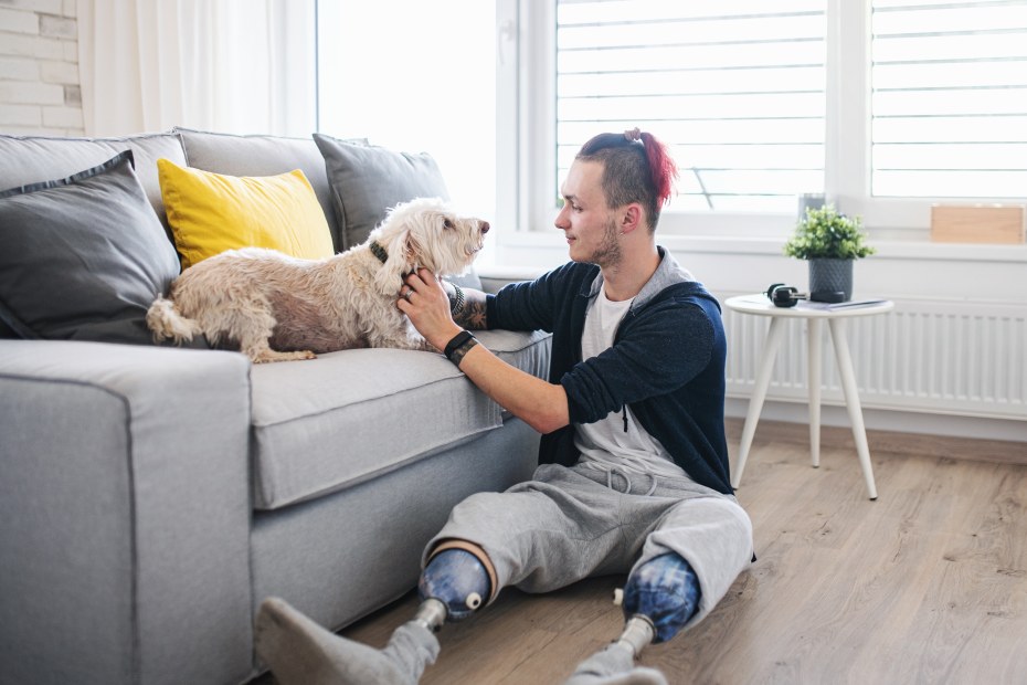
[[[318,0],[317,14],[318,128],[431,154],[454,205],[491,218],[495,4]]]

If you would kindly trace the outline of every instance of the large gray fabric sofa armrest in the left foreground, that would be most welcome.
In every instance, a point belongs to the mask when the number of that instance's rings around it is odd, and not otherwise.
[[[246,676],[248,369],[233,352],[0,340],[6,679]]]

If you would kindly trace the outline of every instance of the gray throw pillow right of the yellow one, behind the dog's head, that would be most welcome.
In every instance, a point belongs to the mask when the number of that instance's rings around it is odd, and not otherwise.
[[[414,198],[449,199],[438,165],[427,152],[395,152],[314,134],[331,187],[331,203],[349,250],[368,239],[385,212]]]

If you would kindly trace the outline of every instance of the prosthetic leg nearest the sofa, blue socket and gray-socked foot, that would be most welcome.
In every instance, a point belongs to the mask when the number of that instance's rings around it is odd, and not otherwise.
[[[383,650],[340,637],[277,598],[261,604],[257,655],[279,685],[414,684],[438,656],[435,634],[446,619],[469,616],[491,597],[487,559],[458,541],[441,545],[421,575],[421,605]],[[484,552],[483,557],[484,557]]]

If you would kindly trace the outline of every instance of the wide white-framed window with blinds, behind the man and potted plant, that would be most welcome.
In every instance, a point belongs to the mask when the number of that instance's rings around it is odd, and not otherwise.
[[[678,161],[670,233],[779,235],[807,192],[898,231],[1027,197],[1027,0],[511,4],[522,228],[551,221],[581,143],[635,125]]]

